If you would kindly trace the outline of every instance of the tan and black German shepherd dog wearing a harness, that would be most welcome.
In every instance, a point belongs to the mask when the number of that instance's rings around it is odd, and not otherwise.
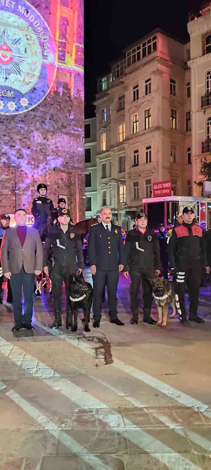
[[[176,282],[168,281],[167,279],[161,279],[156,277],[150,279],[152,286],[152,296],[158,309],[158,323],[157,326],[166,327],[168,304],[173,308],[173,313],[170,318],[173,318],[177,312],[176,305]]]

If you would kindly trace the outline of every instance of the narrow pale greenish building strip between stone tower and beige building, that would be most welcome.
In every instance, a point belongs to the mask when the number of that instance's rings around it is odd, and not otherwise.
[[[84,123],[85,168],[89,172],[85,175],[85,217],[90,219],[98,212],[96,118],[85,119]]]

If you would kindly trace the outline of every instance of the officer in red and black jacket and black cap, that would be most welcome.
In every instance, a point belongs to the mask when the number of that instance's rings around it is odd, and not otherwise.
[[[204,320],[197,315],[202,266],[206,267],[207,273],[210,272],[203,230],[193,223],[194,212],[192,207],[184,207],[182,217],[183,223],[173,228],[167,245],[171,270],[176,272],[176,292],[180,302],[180,320],[181,323],[187,321],[184,296],[188,281],[190,298],[188,320],[204,323]]]

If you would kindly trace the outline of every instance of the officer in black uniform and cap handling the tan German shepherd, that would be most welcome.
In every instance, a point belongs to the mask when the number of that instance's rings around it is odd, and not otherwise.
[[[147,215],[141,212],[136,216],[136,229],[129,230],[125,243],[126,264],[124,276],[130,274],[130,308],[133,318],[130,323],[138,323],[138,291],[141,281],[143,286],[143,322],[149,325],[156,323],[151,318],[151,283],[147,278],[160,274],[160,249],[158,237],[154,230],[147,228]],[[129,273],[128,273],[128,265]]]

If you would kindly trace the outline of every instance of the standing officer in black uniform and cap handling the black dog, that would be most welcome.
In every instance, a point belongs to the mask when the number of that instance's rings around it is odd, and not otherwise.
[[[80,235],[73,232],[70,224],[70,212],[68,209],[60,209],[58,215],[58,226],[52,227],[47,234],[44,246],[44,273],[49,275],[47,261],[49,251],[53,251],[53,267],[51,269],[51,280],[53,289],[53,310],[55,321],[51,328],[57,329],[61,326],[61,293],[62,283],[65,282],[67,296],[67,316],[69,322],[72,320],[72,312],[69,307],[69,276],[76,272],[76,256],[80,274],[83,269],[83,246]]]

